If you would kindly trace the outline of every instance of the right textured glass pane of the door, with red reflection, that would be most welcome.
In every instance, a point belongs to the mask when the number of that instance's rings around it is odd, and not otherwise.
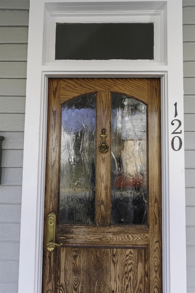
[[[147,108],[112,94],[112,224],[147,224]]]

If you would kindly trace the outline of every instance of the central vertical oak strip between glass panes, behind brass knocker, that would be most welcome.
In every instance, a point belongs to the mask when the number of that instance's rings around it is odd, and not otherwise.
[[[109,91],[98,91],[96,101],[96,181],[95,181],[95,223],[97,226],[108,226],[111,222],[111,97]],[[108,152],[101,153],[101,130],[106,130]]]

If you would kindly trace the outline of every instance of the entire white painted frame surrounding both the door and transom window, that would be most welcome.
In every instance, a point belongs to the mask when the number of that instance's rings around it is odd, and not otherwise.
[[[19,293],[39,293],[42,285],[48,77],[161,77],[163,292],[184,293],[184,146],[171,145],[177,118],[184,141],[182,1],[83,1],[30,0]],[[55,23],[83,19],[154,22],[154,60],[56,61]]]

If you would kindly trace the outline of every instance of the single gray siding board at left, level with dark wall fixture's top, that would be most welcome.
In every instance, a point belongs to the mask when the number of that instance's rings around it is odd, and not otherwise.
[[[23,149],[23,132],[0,132],[0,135],[5,137],[2,141],[2,149]]]

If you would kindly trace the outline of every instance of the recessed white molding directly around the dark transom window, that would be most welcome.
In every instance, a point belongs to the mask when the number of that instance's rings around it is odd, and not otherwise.
[[[55,11],[51,10],[51,3],[46,4],[44,23],[44,36],[46,48],[43,51],[44,65],[75,66],[102,66],[109,65],[132,66],[135,64],[152,65],[167,64],[166,47],[166,2],[114,2],[104,5],[98,2],[58,3]],[[103,10],[102,10],[103,9]],[[55,29],[56,23],[154,23],[154,60],[55,60]]]

